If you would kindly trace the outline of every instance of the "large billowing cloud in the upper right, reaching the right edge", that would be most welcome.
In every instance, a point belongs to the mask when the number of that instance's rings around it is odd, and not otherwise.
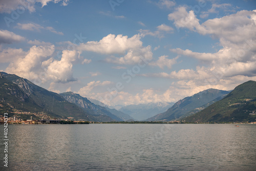
[[[188,28],[202,35],[219,38],[223,47],[227,43],[243,44],[246,39],[256,35],[256,10],[242,10],[222,18],[208,19],[200,25],[194,11],[187,12],[185,7],[179,7],[168,15],[168,19],[174,20],[177,28]]]

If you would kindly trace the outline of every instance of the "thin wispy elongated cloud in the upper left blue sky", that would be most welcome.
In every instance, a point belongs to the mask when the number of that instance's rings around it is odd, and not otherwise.
[[[62,32],[56,31],[53,27],[42,27],[35,23],[27,23],[27,24],[17,23],[17,26],[15,26],[15,28],[18,28],[21,30],[37,31],[37,32],[44,29],[44,30],[49,30],[50,32],[55,33],[55,34],[63,35]]]

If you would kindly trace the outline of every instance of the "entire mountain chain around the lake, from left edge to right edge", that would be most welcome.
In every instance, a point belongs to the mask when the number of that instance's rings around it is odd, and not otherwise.
[[[254,122],[256,82],[232,92],[208,89],[173,103],[128,105],[119,111],[73,92],[53,93],[25,78],[0,72],[0,111],[24,119],[43,115],[98,122],[146,120],[186,122]],[[94,102],[94,103],[93,103]],[[95,104],[96,103],[96,104]],[[153,116],[154,115],[154,116]]]

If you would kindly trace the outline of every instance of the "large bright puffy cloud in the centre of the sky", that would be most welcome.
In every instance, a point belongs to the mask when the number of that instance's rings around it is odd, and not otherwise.
[[[110,55],[105,59],[106,62],[132,65],[140,62],[141,58],[151,60],[153,56],[151,46],[143,47],[140,38],[140,34],[130,38],[109,34],[99,41],[88,41],[80,44],[77,50]]]

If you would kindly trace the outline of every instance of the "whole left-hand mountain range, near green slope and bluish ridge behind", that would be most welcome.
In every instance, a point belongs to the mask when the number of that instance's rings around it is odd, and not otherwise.
[[[4,72],[0,72],[0,97],[0,111],[10,115],[18,113],[23,119],[48,116],[99,122],[133,120],[127,114],[96,105],[79,94],[50,92],[25,78]]]

